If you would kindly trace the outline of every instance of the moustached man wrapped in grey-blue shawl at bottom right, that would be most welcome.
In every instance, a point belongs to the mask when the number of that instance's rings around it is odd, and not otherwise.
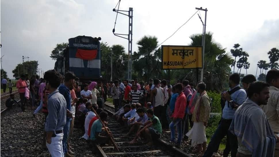
[[[279,137],[274,135],[267,115],[259,105],[269,101],[269,84],[254,82],[248,88],[248,99],[235,111],[229,131],[237,136],[238,157],[274,157]]]

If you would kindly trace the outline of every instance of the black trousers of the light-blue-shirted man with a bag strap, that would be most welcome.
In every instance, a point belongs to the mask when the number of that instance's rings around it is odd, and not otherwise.
[[[219,149],[219,145],[221,140],[227,135],[227,139],[229,140],[231,156],[236,157],[238,143],[237,137],[229,132],[229,128],[232,120],[222,119],[218,128],[216,129],[214,135],[211,137],[211,140],[208,144],[208,147],[205,151],[203,157],[211,157],[214,152],[217,152]],[[227,146],[226,146],[227,147]]]

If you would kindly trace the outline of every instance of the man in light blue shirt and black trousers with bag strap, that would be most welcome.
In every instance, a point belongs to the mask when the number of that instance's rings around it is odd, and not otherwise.
[[[247,98],[246,91],[239,86],[240,76],[237,73],[230,75],[229,85],[230,91],[222,94],[222,98],[226,99],[225,107],[223,109],[221,122],[216,129],[214,135],[207,146],[207,150],[203,157],[211,157],[214,152],[218,151],[221,140],[227,136],[229,139],[229,146],[231,149],[231,156],[236,157],[238,142],[237,137],[230,133],[229,128],[234,117],[234,113],[239,105],[241,105]],[[238,88],[237,90],[235,88]],[[232,92],[235,89],[234,92]],[[231,93],[231,94],[230,94]]]

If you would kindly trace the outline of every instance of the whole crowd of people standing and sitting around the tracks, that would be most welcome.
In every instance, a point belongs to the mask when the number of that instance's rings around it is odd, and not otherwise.
[[[22,111],[27,83],[22,75],[16,85]],[[103,84],[97,80],[83,86],[81,90],[79,79],[72,72],[62,76],[49,70],[41,84],[31,78],[31,98],[38,95],[40,100],[34,116],[41,109],[45,113],[43,144],[51,156],[73,156],[70,137],[74,121],[76,127],[84,128],[85,140],[92,144],[110,144],[112,133],[107,131],[108,113],[104,111],[107,97],[113,99],[114,118],[127,131],[123,138],[133,137],[130,144],[144,139],[147,145],[153,145],[164,129],[170,129],[170,144],[180,148],[182,141],[189,138],[200,157],[215,156],[225,136],[223,156],[229,153],[232,157],[279,156],[278,70],[268,71],[266,83],[257,82],[253,75],[241,80],[237,73],[230,75],[230,90],[221,93],[221,120],[208,146],[205,128],[211,105],[205,82],[194,86],[188,80],[182,83],[178,80],[171,86],[167,80],[155,78],[149,83],[135,79]]]

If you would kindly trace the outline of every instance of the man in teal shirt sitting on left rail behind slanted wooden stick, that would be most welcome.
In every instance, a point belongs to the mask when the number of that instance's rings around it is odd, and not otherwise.
[[[91,126],[90,130],[90,139],[92,145],[94,144],[108,144],[110,145],[110,136],[112,136],[112,133],[107,134],[106,136],[101,136],[100,133],[102,132],[102,122],[105,123],[105,121],[108,118],[108,113],[103,111],[100,113],[100,119],[95,120]],[[102,120],[102,122],[101,122]]]

